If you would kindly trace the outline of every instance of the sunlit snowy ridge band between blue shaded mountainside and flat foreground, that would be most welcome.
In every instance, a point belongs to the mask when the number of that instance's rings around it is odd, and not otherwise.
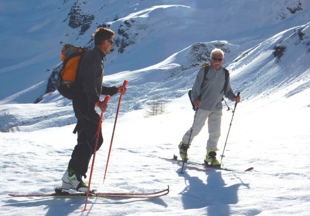
[[[228,62],[224,66],[230,70],[232,88],[235,92],[241,91],[242,100],[264,98],[284,89],[280,97],[291,97],[310,87],[309,26],[310,23],[277,33],[255,46],[252,43],[232,45],[226,41],[194,43],[154,66],[105,76],[104,83],[118,86],[125,79],[129,81],[120,115],[144,109],[154,98],[169,102],[187,94],[199,67],[210,57],[210,51],[221,48]],[[114,117],[118,98],[110,98],[104,119]],[[45,95],[39,104],[2,105],[0,130],[20,126],[22,131],[32,131],[75,123],[71,106],[71,101],[57,91]],[[33,110],[37,112],[31,115]]]

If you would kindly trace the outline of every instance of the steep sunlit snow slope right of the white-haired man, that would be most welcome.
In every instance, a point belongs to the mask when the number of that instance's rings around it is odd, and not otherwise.
[[[289,97],[310,87],[309,59],[310,23],[278,33],[245,51],[228,69],[243,97],[268,96],[292,88]]]

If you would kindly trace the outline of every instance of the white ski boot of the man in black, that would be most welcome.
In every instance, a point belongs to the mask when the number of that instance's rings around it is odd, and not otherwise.
[[[63,181],[63,189],[73,189],[79,192],[87,193],[88,186],[83,182],[82,176],[79,173],[73,171],[72,168],[67,169],[61,180]]]

